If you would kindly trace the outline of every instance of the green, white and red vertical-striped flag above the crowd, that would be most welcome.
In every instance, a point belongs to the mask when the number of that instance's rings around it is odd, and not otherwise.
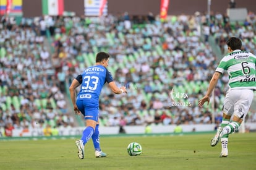
[[[43,15],[63,15],[64,0],[42,0]]]

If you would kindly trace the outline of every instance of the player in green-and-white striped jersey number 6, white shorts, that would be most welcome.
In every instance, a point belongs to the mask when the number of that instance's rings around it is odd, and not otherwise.
[[[205,102],[209,103],[218,79],[227,70],[229,90],[224,98],[223,120],[215,137],[211,139],[211,147],[215,147],[221,140],[220,157],[228,156],[228,135],[235,132],[245,119],[256,90],[256,56],[248,51],[241,51],[242,41],[239,38],[229,38],[226,45],[228,45],[228,54],[221,59],[215,70],[206,95],[198,101],[199,108],[202,108]]]

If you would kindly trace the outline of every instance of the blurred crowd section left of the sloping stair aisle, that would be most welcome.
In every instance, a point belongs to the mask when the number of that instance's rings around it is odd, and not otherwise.
[[[61,75],[53,67],[40,25],[1,23],[0,127],[12,129],[67,127],[74,118],[67,112]],[[4,134],[2,132],[1,134]]]

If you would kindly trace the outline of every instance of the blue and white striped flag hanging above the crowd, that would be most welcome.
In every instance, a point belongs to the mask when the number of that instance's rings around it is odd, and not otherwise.
[[[85,15],[86,16],[98,16],[100,13],[101,0],[85,0]],[[108,2],[106,2],[103,15],[108,14]]]

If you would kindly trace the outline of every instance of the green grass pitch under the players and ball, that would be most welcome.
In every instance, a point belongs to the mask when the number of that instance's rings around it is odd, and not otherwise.
[[[92,140],[85,159],[77,157],[75,139],[0,141],[0,169],[256,169],[256,134],[229,136],[229,156],[219,158],[214,134],[101,137],[107,158],[95,158]],[[138,142],[142,155],[129,156],[127,145]]]

